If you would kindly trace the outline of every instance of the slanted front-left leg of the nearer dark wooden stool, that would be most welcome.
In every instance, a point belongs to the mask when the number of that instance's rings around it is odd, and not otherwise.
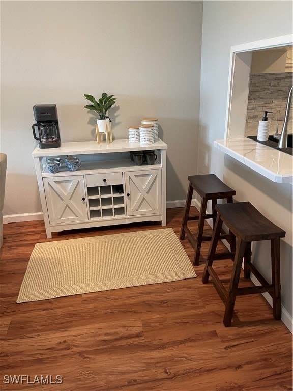
[[[224,326],[229,327],[231,325],[233,310],[235,306],[235,300],[237,296],[239,277],[241,273],[242,259],[245,253],[246,242],[239,239],[236,245],[236,254],[233,263],[233,270],[230,279],[230,286],[228,289],[228,296],[226,298],[225,314],[224,314]]]

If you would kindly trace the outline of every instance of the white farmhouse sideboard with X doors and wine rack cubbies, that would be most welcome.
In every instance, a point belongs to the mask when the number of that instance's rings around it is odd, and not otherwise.
[[[154,150],[153,165],[136,165],[134,151]],[[47,237],[52,232],[78,228],[162,221],[166,225],[166,150],[160,139],[152,145],[129,143],[128,139],[110,144],[95,141],[62,143],[59,148],[32,153],[35,162]],[[77,156],[77,171],[47,169],[49,157]]]

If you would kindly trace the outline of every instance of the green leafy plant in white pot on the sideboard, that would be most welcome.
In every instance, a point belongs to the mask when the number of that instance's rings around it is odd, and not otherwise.
[[[110,127],[110,119],[106,116],[107,111],[115,104],[116,98],[114,95],[108,95],[105,92],[102,93],[101,98],[96,101],[93,95],[84,94],[84,98],[92,102],[93,104],[87,104],[84,108],[87,108],[91,111],[96,111],[99,117],[97,119],[97,124],[99,127],[100,133],[106,133],[106,129]]]

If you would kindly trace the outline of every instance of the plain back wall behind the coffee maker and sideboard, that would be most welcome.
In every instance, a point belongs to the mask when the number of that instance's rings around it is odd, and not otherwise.
[[[41,212],[31,153],[33,106],[56,103],[61,138],[94,140],[83,94],[117,97],[115,138],[159,118],[168,144],[167,200],[183,200],[196,172],[202,2],[1,2],[4,215]]]

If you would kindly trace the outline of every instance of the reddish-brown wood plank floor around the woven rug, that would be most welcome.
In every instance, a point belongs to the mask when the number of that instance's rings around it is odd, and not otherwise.
[[[167,210],[167,227],[178,236],[182,216],[183,208]],[[196,225],[190,222],[193,229]],[[190,280],[16,304],[36,243],[161,228],[132,224],[47,239],[43,221],[6,224],[0,261],[0,389],[291,390],[290,332],[274,320],[261,295],[237,297],[232,325],[225,328],[223,302],[211,282],[201,283],[204,258],[195,267],[197,278]],[[211,231],[208,225],[206,231]],[[203,256],[209,243],[203,243]],[[192,260],[189,242],[182,244]],[[225,284],[231,264],[215,261]],[[243,277],[241,283],[252,284]]]

